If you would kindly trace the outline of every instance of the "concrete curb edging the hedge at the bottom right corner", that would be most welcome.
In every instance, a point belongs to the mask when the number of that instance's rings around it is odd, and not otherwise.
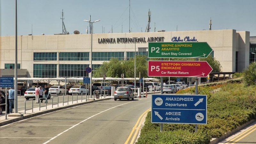
[[[256,120],[253,119],[250,122],[247,122],[247,123],[245,123],[245,124],[243,124],[241,126],[238,126],[236,129],[233,129],[232,131],[225,133],[224,135],[222,135],[219,138],[212,138],[212,140],[211,140],[211,142],[209,144],[216,144],[216,143],[220,142],[221,140],[224,140],[224,139],[228,138],[230,135],[236,133],[237,131],[243,129],[244,127],[248,126],[249,124],[252,124],[255,121]]]

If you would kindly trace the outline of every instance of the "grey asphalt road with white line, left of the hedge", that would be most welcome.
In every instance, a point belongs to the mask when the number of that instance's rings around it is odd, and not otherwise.
[[[151,95],[105,100],[0,127],[1,143],[130,143],[151,108]],[[140,121],[139,121],[140,120]]]

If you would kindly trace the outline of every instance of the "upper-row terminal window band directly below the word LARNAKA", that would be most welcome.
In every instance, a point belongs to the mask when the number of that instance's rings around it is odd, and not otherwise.
[[[92,52],[92,60],[94,61],[108,61],[111,58],[124,60],[124,52]]]

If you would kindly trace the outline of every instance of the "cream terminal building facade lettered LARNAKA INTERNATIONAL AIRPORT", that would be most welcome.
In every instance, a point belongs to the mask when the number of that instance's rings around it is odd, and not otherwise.
[[[111,57],[128,60],[148,56],[148,42],[207,42],[222,72],[242,72],[249,66],[250,32],[225,30],[108,33],[92,35],[92,69]],[[86,77],[91,34],[18,36],[19,77]],[[14,76],[15,36],[0,36],[0,76]]]

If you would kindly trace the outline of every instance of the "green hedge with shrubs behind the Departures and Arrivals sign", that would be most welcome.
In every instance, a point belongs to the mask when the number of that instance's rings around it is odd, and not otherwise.
[[[198,87],[198,94],[207,95],[207,124],[160,124],[151,123],[148,113],[137,143],[204,144],[212,138],[256,118],[256,87],[244,87],[240,79]],[[195,88],[177,94],[195,94]]]

